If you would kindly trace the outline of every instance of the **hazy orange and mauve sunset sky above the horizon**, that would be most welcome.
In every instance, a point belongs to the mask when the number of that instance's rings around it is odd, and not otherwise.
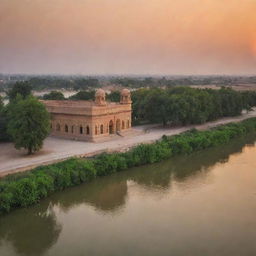
[[[0,0],[0,73],[255,74],[256,0]]]

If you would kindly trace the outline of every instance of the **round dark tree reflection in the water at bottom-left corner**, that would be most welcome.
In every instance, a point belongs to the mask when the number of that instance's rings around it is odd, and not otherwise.
[[[22,209],[0,218],[0,243],[10,242],[18,255],[42,255],[58,240],[58,224],[51,204]]]

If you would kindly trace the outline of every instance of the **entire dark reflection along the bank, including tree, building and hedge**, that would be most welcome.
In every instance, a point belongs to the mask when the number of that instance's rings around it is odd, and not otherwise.
[[[40,205],[2,216],[0,254],[43,255],[53,247],[62,233],[64,223],[57,217],[59,210],[68,213],[79,206],[89,205],[100,214],[120,214],[127,204],[130,181],[151,193],[159,190],[162,193],[171,193],[174,183],[184,184],[195,177],[207,179],[208,172],[216,164],[227,162],[231,154],[241,153],[246,144],[254,146],[254,140],[255,137],[247,137],[190,156],[176,157],[99,178],[89,184],[56,193]],[[3,254],[8,244],[13,246],[15,254]]]

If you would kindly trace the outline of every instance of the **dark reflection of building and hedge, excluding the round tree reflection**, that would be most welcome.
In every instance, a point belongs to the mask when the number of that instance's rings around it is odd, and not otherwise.
[[[172,182],[185,182],[187,178],[207,173],[217,163],[228,162],[230,155],[241,153],[245,145],[254,146],[255,137],[246,137],[233,141],[229,145],[216,147],[189,156],[146,166],[99,178],[89,184],[68,189],[52,196],[50,203],[58,205],[63,211],[80,204],[89,204],[106,214],[115,213],[125,206],[127,181],[133,181],[148,191],[169,191]]]

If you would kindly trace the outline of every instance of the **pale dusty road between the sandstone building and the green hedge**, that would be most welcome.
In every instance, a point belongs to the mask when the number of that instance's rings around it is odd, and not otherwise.
[[[48,137],[45,140],[43,149],[31,156],[28,156],[25,151],[17,151],[12,143],[1,143],[0,177],[7,174],[30,170],[40,165],[56,163],[70,157],[87,157],[97,155],[102,152],[127,151],[141,143],[153,143],[161,139],[163,135],[177,135],[192,128],[207,130],[209,128],[231,122],[240,122],[251,117],[256,117],[255,109],[249,113],[243,113],[241,116],[222,118],[202,125],[190,125],[174,128],[137,126],[133,128],[133,133],[127,134],[125,137],[116,136],[110,141],[98,143]]]

